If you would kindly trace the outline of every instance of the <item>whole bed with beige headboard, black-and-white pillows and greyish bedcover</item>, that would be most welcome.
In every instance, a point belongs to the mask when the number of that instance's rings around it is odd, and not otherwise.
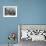
[[[20,24],[18,30],[20,46],[43,46],[46,43],[46,25]]]

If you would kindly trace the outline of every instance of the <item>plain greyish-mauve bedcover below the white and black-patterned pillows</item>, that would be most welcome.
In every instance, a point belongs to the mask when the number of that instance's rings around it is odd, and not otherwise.
[[[20,46],[46,46],[46,42],[45,41],[32,42],[31,40],[28,40],[28,41],[21,40]]]

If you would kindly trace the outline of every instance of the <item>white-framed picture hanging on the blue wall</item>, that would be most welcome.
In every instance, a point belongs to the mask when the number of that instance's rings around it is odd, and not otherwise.
[[[3,17],[17,17],[17,6],[3,6]]]

